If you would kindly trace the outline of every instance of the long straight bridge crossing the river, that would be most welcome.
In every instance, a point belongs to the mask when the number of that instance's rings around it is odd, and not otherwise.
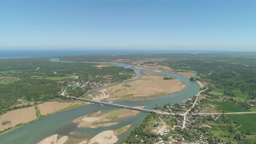
[[[126,106],[126,105],[112,104],[112,103],[109,103],[109,102],[92,101],[92,100],[83,99],[83,98],[76,98],[76,97],[73,97],[73,96],[70,96],[70,98],[75,99],[75,100],[79,100],[79,101],[91,102],[91,103],[95,103],[95,104],[99,104],[99,105],[108,105],[108,106],[117,107],[117,108],[127,108],[127,109],[146,112],[146,113],[155,112],[155,113],[165,114],[165,115],[174,115],[173,113],[168,113],[168,112],[161,112],[161,111],[149,110],[149,109],[144,109],[144,108],[135,108],[135,107]]]

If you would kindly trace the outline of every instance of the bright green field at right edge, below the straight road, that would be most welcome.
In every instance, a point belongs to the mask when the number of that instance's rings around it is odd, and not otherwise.
[[[233,121],[238,121],[242,124],[239,131],[246,131],[247,129],[256,132],[256,114],[243,114],[243,115],[226,115]]]

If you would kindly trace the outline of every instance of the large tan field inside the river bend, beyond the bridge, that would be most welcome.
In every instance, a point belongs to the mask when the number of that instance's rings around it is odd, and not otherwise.
[[[164,76],[145,73],[141,79],[108,88],[110,99],[148,97],[179,92],[186,84],[178,79],[164,80]]]

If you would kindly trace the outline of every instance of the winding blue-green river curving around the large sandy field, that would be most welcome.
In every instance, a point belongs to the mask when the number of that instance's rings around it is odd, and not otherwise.
[[[56,60],[56,59],[55,59]],[[54,61],[54,60],[53,60]],[[123,66],[125,68],[132,68],[129,65],[115,63],[116,65]],[[132,68],[134,69],[134,68]],[[138,77],[141,77],[141,70],[134,69],[135,73]],[[187,84],[187,88],[182,90],[181,92],[173,93],[170,95],[164,95],[157,97],[156,100],[151,101],[118,101],[114,102],[121,105],[129,105],[129,106],[136,106],[136,105],[146,105],[145,108],[152,109],[154,105],[165,105],[167,103],[177,103],[184,101],[185,99],[191,97],[192,95],[196,95],[199,92],[199,85],[197,82],[192,82],[188,78],[182,75],[176,75],[167,73],[165,71],[162,72],[154,72],[153,70],[143,70],[144,72],[153,72],[159,73],[164,75],[174,76],[177,79],[181,80],[182,82]],[[126,131],[125,133],[118,136],[120,143],[123,139],[125,139],[132,129],[137,127],[141,121],[148,115],[146,113],[140,113],[134,117],[125,118],[118,120],[118,124],[110,126],[110,127],[103,127],[103,128],[77,128],[77,125],[72,123],[75,118],[78,118],[83,115],[88,115],[97,111],[112,111],[118,108],[110,107],[110,106],[101,106],[101,105],[84,105],[78,108],[73,108],[68,111],[62,111],[53,115],[49,115],[46,118],[42,118],[38,121],[33,122],[32,124],[28,124],[23,126],[22,128],[16,129],[10,133],[7,133],[3,136],[0,136],[0,143],[1,144],[36,144],[37,142],[41,141],[42,139],[49,137],[53,134],[60,134],[60,135],[67,135],[73,138],[91,138],[96,134],[107,131],[113,130],[117,128],[121,128],[131,122],[134,123],[131,128]],[[85,136],[77,136],[69,134],[71,131],[79,131],[86,133]]]

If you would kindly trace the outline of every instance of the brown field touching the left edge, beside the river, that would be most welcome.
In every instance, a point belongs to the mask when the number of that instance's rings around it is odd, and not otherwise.
[[[0,131],[3,131],[5,128],[14,127],[16,124],[33,121],[36,118],[36,109],[34,106],[9,111],[3,115],[0,115],[0,123],[3,121],[11,121],[11,123],[5,125],[0,124]]]

